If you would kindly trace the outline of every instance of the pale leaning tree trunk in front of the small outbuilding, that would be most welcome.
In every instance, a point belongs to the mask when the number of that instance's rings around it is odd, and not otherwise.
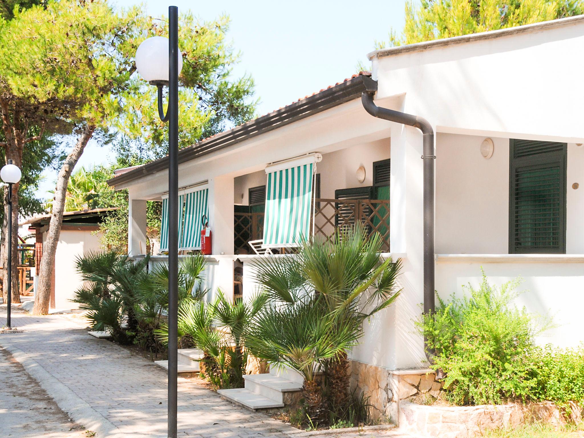
[[[93,131],[95,131],[95,126],[84,126],[75,147],[69,152],[69,155],[67,155],[67,158],[59,171],[57,187],[55,187],[53,213],[51,214],[51,221],[48,225],[48,234],[43,245],[43,257],[40,262],[39,286],[36,296],[34,297],[34,315],[46,315],[48,313],[48,304],[51,298],[51,273],[53,272],[55,252],[57,251],[57,243],[59,241],[59,235],[61,234],[61,224],[63,220],[69,176],[71,176],[71,172],[73,171],[75,164],[77,164],[79,157],[83,154],[87,142],[93,135]],[[72,263],[72,260],[67,260],[67,263]]]

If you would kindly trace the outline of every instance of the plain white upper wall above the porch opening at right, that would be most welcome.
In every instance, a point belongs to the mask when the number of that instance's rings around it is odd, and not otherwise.
[[[584,71],[584,57],[575,55],[584,51],[584,20],[564,23],[446,47],[392,49],[387,53],[397,54],[373,59],[377,99],[405,93],[405,112],[440,132],[582,142],[584,88],[573,84]]]

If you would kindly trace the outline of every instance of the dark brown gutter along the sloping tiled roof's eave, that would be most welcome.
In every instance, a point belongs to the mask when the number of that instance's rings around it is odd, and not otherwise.
[[[348,81],[315,93],[308,98],[294,102],[258,119],[250,120],[224,133],[214,135],[192,146],[179,150],[179,164],[203,157],[215,151],[235,145],[249,138],[257,137],[274,129],[305,119],[332,107],[357,99],[367,89],[376,89],[377,82],[367,75],[359,75]],[[168,157],[157,159],[131,171],[107,180],[110,186],[121,185],[142,176],[168,169]]]

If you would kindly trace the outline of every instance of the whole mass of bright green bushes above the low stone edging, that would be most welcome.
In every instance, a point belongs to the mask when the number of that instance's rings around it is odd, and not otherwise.
[[[536,346],[551,324],[515,307],[519,283],[492,287],[483,272],[479,288],[465,287],[463,298],[439,297],[436,313],[419,323],[430,367],[445,375],[444,397],[454,404],[548,400],[569,415],[569,402],[584,404],[584,347]]]

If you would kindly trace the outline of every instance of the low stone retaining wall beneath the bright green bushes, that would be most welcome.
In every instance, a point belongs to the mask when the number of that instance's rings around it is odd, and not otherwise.
[[[564,423],[552,402],[467,407],[425,406],[404,400],[399,406],[399,430],[420,438],[468,438],[486,429],[512,428],[534,420]]]

